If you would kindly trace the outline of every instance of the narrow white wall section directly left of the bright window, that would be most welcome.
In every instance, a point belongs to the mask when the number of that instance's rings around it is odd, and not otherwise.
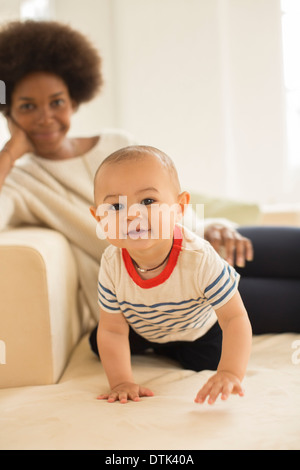
[[[272,202],[284,198],[285,95],[281,11],[277,0],[230,0],[227,102],[236,195]]]

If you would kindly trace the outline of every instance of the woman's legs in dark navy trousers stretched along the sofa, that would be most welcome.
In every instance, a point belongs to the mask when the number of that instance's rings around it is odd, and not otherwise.
[[[241,274],[239,290],[254,334],[300,332],[300,229],[242,227],[254,260]]]

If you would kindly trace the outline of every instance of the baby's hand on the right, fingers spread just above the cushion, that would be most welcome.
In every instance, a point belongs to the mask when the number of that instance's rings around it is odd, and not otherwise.
[[[221,394],[222,400],[227,400],[231,393],[241,397],[244,395],[241,382],[235,375],[220,371],[214,374],[201,388],[195,402],[204,403],[206,397],[209,397],[208,403],[212,405],[219,394]]]

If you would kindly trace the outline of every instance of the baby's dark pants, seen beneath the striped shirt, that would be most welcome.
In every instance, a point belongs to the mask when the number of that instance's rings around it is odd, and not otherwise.
[[[96,335],[97,328],[90,335],[90,345],[94,353],[99,355]],[[179,362],[184,369],[216,370],[221,356],[222,330],[216,323],[204,336],[195,341],[172,341],[160,344],[146,340],[130,328],[129,343],[131,354],[143,354],[148,349],[153,349],[156,354]]]

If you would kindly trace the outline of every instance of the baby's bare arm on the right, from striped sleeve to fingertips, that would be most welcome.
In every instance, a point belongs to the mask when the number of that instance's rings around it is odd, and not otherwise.
[[[219,394],[226,400],[233,394],[243,395],[244,378],[252,342],[252,330],[240,294],[237,292],[223,307],[216,310],[223,332],[222,354],[217,373],[198,392],[195,401],[216,401]]]

